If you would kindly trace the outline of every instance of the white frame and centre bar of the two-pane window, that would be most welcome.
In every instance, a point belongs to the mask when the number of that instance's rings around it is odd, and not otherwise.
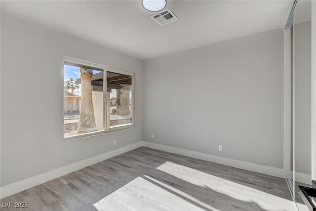
[[[103,70],[103,83],[105,84],[105,86],[103,86],[103,130],[102,131],[94,131],[94,132],[90,132],[90,133],[84,133],[84,134],[78,134],[78,135],[73,135],[73,136],[68,136],[65,137],[64,136],[64,141],[69,141],[69,140],[74,140],[74,139],[79,139],[79,138],[84,138],[84,137],[89,137],[89,136],[94,136],[94,135],[99,135],[99,134],[103,134],[103,133],[108,133],[111,131],[117,131],[117,130],[122,130],[122,129],[126,129],[126,128],[131,128],[131,127],[135,127],[135,73],[132,72],[127,72],[124,70],[119,70],[116,68],[112,68],[112,67],[108,67],[102,64],[97,64],[97,63],[92,63],[89,61],[84,61],[84,60],[80,60],[80,59],[76,59],[76,58],[72,58],[72,57],[68,57],[68,56],[64,56],[64,60],[63,60],[63,75],[64,75],[64,64],[65,62],[70,62],[70,63],[75,63],[75,64],[79,64],[82,66],[88,66],[88,67],[94,67],[97,69],[102,69]],[[130,75],[132,76],[132,85],[131,85],[131,92],[132,92],[132,124],[130,125],[125,125],[125,126],[120,126],[120,127],[112,127],[108,128],[108,121],[107,121],[107,72],[114,72],[114,73],[118,73],[118,74],[124,74],[124,75]],[[63,100],[64,103],[64,100]],[[64,112],[62,112],[63,114],[63,118],[64,118]]]

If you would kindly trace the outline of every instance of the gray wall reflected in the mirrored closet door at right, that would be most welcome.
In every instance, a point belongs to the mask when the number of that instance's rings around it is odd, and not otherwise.
[[[311,174],[311,22],[294,26],[295,171]]]

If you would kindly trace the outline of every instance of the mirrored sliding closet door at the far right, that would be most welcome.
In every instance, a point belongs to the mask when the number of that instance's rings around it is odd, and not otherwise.
[[[297,185],[311,182],[311,1],[297,1],[292,30],[292,167],[297,192]],[[298,194],[294,198],[300,210],[304,203]]]

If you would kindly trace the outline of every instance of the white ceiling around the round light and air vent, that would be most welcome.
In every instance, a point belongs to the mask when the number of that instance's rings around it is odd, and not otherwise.
[[[141,0],[6,1],[1,11],[140,59],[284,27],[292,0],[167,0],[178,21],[160,26]]]

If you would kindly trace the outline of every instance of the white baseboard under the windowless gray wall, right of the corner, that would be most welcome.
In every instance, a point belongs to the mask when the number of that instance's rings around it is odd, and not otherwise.
[[[151,142],[144,142],[144,147],[149,147],[157,150],[162,150],[169,153],[174,153],[182,156],[187,156],[191,158],[197,158],[209,162],[215,162],[222,165],[228,165],[235,168],[240,168],[248,171],[254,171],[262,174],[267,174],[271,176],[281,177],[281,178],[291,178],[292,172],[284,170],[281,168],[270,167],[266,165],[255,164],[251,162],[245,162],[241,160],[223,158],[218,156],[212,156],[204,153],[198,153],[190,150],[183,150],[175,147],[169,147],[165,145],[155,144]]]

